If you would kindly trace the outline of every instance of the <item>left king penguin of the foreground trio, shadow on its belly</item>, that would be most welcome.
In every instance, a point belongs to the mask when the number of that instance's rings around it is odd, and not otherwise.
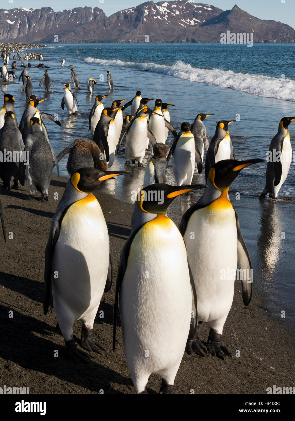
[[[45,250],[44,314],[52,288],[58,325],[76,362],[86,362],[87,354],[75,345],[75,320],[82,322],[82,348],[94,352],[104,349],[93,336],[93,323],[103,293],[112,286],[109,234],[92,193],[103,181],[125,173],[80,168],[67,182],[51,222]]]

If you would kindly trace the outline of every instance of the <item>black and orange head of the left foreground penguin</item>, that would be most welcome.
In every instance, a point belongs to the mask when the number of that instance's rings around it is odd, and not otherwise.
[[[105,180],[122,174],[130,174],[128,171],[101,171],[96,168],[80,168],[71,177],[72,186],[82,193],[92,193]]]

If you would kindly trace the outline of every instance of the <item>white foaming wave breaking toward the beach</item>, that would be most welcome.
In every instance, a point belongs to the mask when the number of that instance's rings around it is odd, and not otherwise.
[[[295,101],[295,80],[288,78],[283,80],[278,77],[235,73],[231,70],[198,69],[182,61],[177,61],[173,66],[156,63],[94,59],[93,57],[87,57],[85,61],[101,64],[102,66],[148,70],[149,72],[162,73],[163,75],[178,77],[179,79],[186,79],[191,82],[207,83],[209,85],[220,86],[221,88],[231,88],[235,91],[252,93],[253,95],[266,98]]]

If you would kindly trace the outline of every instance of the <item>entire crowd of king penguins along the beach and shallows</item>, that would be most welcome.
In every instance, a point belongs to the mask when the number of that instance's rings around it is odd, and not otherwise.
[[[11,50],[17,51],[13,69],[21,60],[19,80],[22,79],[21,92],[25,92],[27,102],[18,125],[15,99],[4,94],[0,151],[13,151],[23,159],[0,162],[3,187],[17,189],[19,182],[24,185],[26,176],[29,199],[39,192],[46,201],[53,167],[56,165],[58,170],[58,162],[69,155],[66,168],[70,179],[53,216],[45,250],[44,313],[48,312],[52,293],[58,327],[73,361],[89,360],[75,343],[75,320],[82,322],[80,347],[88,352],[104,350],[93,335],[93,324],[103,294],[112,287],[112,261],[106,221],[93,192],[108,179],[130,176],[128,171],[109,171],[124,138],[126,167],[130,161],[143,167],[149,151],[144,186],[138,186],[142,189],[134,204],[132,232],[122,249],[115,283],[113,350],[120,310],[125,357],[136,393],[147,393],[151,373],[162,378],[160,393],[175,393],[174,379],[185,350],[201,357],[206,353],[221,359],[231,357],[222,343],[222,334],[233,301],[235,277],[221,280],[221,271],[242,270],[245,306],[251,300],[252,279],[245,275],[250,273],[251,260],[238,215],[229,200],[229,187],[240,171],[263,160],[235,160],[229,135],[229,125],[235,120],[218,121],[209,142],[204,121],[213,113],[197,114],[191,125],[183,122],[177,133],[168,111],[175,105],[156,99],[152,109],[148,103],[154,99],[141,96],[141,91],[125,105],[127,99],[114,99],[111,107],[104,107],[102,101],[114,96],[115,90],[109,70],[109,90],[95,96],[89,114],[88,132],[92,139],[75,139],[56,157],[44,120],[61,123],[38,109],[44,100],[34,95],[24,66],[24,59],[43,57],[25,53],[23,58],[19,55],[23,47],[0,45],[4,81],[8,80]],[[61,66],[64,64],[65,59]],[[61,108],[74,115],[79,114],[74,91],[80,90],[80,81],[74,66],[69,69],[70,82],[62,83],[65,88]],[[89,93],[94,92],[96,83],[94,78],[88,78]],[[39,86],[42,84],[46,92],[52,92],[53,81],[47,70]],[[123,116],[128,107],[130,114]],[[276,199],[287,178],[292,152],[288,126],[294,120],[295,117],[283,117],[271,140],[269,151],[279,152],[282,159],[268,160],[266,186],[260,199],[267,194]],[[169,131],[174,136],[170,150],[166,144]],[[198,173],[203,171],[205,149],[206,184],[191,184],[195,168]],[[170,158],[173,169],[168,165]],[[181,195],[197,189],[204,189],[202,197],[181,216]],[[5,239],[1,202],[0,216]],[[197,325],[202,322],[210,328],[207,342],[201,341],[197,333]]]

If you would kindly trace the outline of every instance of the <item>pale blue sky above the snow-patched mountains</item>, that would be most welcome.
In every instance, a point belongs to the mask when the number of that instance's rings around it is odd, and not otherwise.
[[[237,5],[260,19],[273,19],[289,24],[295,27],[295,1],[285,0],[213,0],[210,2],[215,7],[226,10]],[[55,11],[62,11],[64,9],[72,9],[74,7],[97,6],[101,8],[107,16],[119,10],[136,6],[144,3],[141,0],[13,0],[9,3],[8,0],[1,0],[1,8],[12,9],[16,7],[38,8],[38,7],[52,7]],[[157,3],[157,0],[155,1]],[[202,3],[195,1],[195,3]],[[209,4],[210,4],[209,3]]]

